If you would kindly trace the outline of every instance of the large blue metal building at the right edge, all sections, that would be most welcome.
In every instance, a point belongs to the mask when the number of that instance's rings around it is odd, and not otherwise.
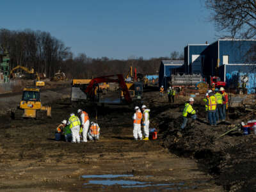
[[[228,87],[241,83],[247,76],[248,93],[256,88],[256,65],[250,50],[256,49],[255,40],[217,40],[209,44],[189,44],[184,48],[184,68],[187,74],[200,73],[205,77],[219,76]]]

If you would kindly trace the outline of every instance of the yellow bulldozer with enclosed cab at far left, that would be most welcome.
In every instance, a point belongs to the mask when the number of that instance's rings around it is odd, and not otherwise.
[[[51,117],[51,106],[42,106],[40,88],[26,87],[23,89],[20,105],[12,111],[12,118],[42,118],[42,113],[45,112]]]

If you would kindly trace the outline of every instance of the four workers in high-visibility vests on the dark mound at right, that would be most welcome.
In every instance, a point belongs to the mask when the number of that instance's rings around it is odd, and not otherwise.
[[[193,109],[194,102],[195,100],[191,97],[185,104],[182,113],[183,123],[181,129],[186,127],[189,117],[196,120],[196,111]],[[206,118],[210,125],[216,126],[218,122],[225,121],[226,110],[228,108],[228,95],[223,87],[221,87],[220,90],[218,90],[218,88],[208,90],[205,94],[204,102]]]

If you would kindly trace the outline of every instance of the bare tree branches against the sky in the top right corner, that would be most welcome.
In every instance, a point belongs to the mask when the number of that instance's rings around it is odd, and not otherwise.
[[[232,38],[256,35],[256,0],[205,0],[211,20],[219,31]]]

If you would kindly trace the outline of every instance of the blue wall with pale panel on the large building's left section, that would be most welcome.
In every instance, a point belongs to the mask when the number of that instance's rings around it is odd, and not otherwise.
[[[195,62],[192,63],[192,55],[193,54],[200,54],[204,55],[203,52],[209,45],[189,45],[189,73],[200,73],[202,72],[202,59],[199,58],[198,61],[200,62]],[[193,65],[194,64],[194,65]]]

